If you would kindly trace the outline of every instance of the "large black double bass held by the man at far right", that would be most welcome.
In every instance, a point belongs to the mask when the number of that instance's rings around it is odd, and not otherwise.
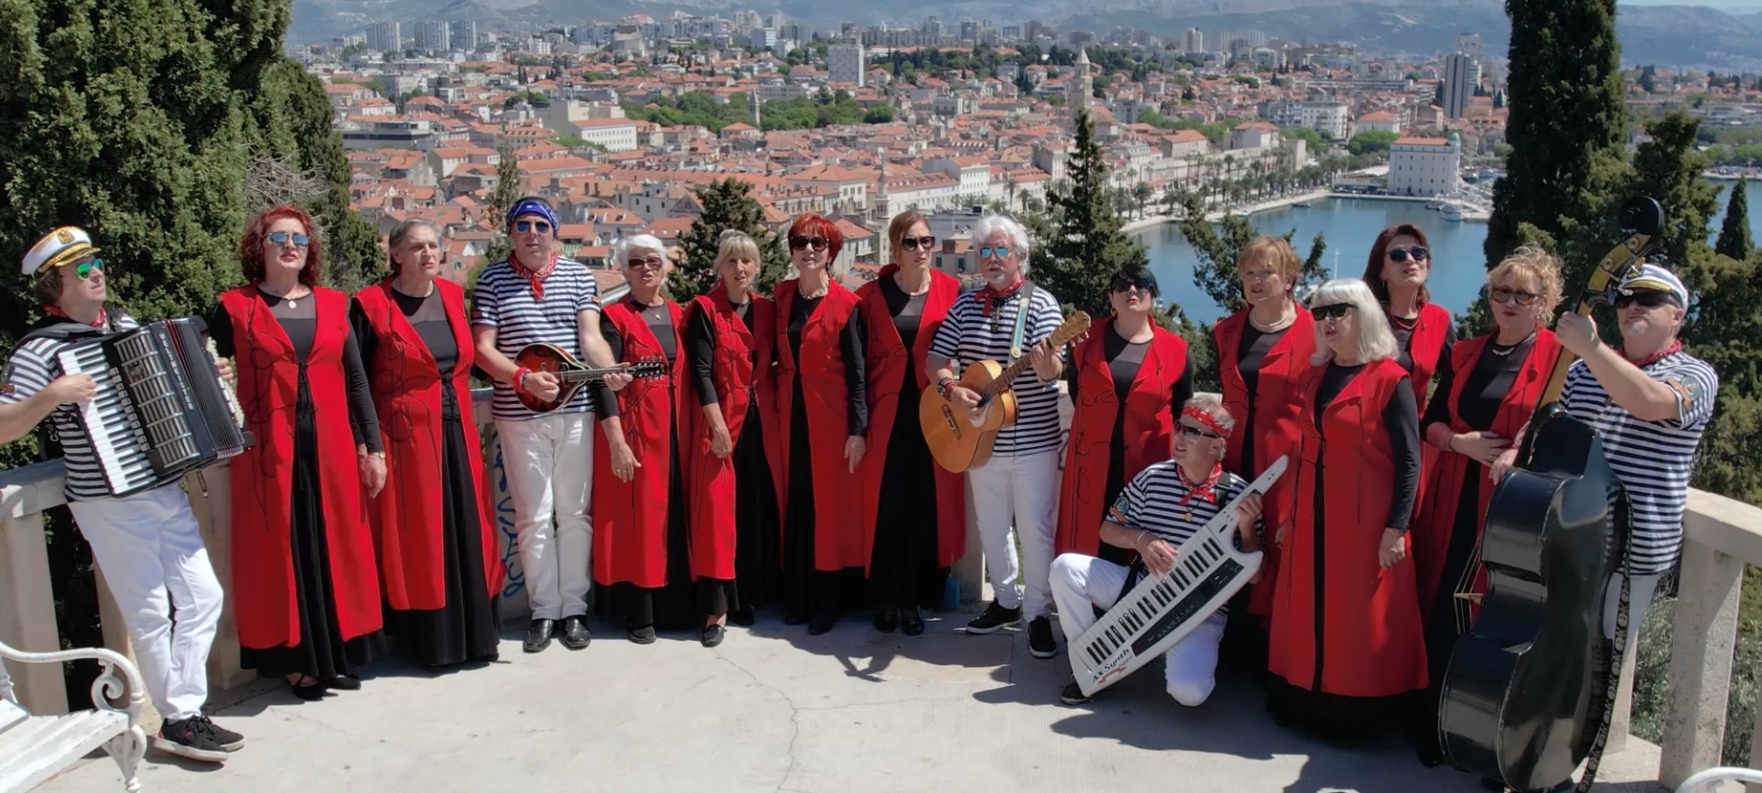
[[[1591,273],[1581,315],[1642,264],[1663,208],[1633,199],[1619,220],[1626,238]],[[1596,430],[1559,405],[1572,361],[1561,351],[1517,469],[1492,492],[1480,537],[1487,592],[1450,652],[1438,710],[1450,763],[1517,791],[1566,782],[1588,756],[1579,789],[1589,788],[1616,694],[1619,645],[1603,640],[1603,592],[1632,516]]]

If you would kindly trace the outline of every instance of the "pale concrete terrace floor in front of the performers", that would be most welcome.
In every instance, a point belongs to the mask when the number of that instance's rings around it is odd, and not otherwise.
[[[1337,747],[1281,730],[1255,686],[1225,671],[1182,708],[1147,666],[1085,707],[1062,707],[1066,659],[1027,652],[1027,633],[966,636],[962,613],[927,613],[918,638],[851,615],[825,636],[779,613],[638,647],[611,624],[594,645],[520,652],[428,675],[407,661],[366,670],[361,691],[303,703],[259,682],[217,721],[248,737],[226,767],[148,752],[146,791],[1480,791],[1422,768],[1396,737]],[[1061,638],[1062,643],[1062,638]],[[1630,740],[1603,791],[1651,793],[1656,747]],[[120,789],[102,756],[44,793]]]

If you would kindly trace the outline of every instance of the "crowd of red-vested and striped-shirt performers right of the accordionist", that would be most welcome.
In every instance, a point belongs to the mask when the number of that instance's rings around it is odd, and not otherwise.
[[[770,298],[756,293],[759,243],[726,233],[715,287],[685,305],[666,298],[661,240],[618,241],[629,293],[601,303],[587,268],[557,256],[544,201],[523,199],[506,222],[515,252],[485,270],[469,314],[437,278],[433,226],[395,229],[393,275],[352,303],[315,285],[303,213],[250,226],[252,284],[210,322],[259,439],[233,465],[240,640],[247,664],[301,696],[359,686],[356,670],[389,645],[433,668],[495,657],[504,571],[463,418],[476,367],[495,382],[527,652],[553,638],[587,647],[590,610],[636,643],[691,629],[715,647],[728,622],[768,606],[816,634],[862,610],[879,631],[920,634],[967,550],[971,508],[996,601],[967,633],[1025,619],[1033,654],[1054,657],[1054,601],[1114,603],[1099,589],[1129,582],[1135,559],[1166,569],[1181,537],[1288,456],[1286,476],[1235,515],[1237,545],[1265,552],[1262,573],[1228,631],[1212,615],[1170,652],[1170,693],[1205,700],[1228,633],[1279,723],[1337,737],[1399,721],[1438,763],[1438,684],[1475,608],[1459,594],[1485,585],[1477,553],[1496,474],[1558,356],[1584,358],[1573,414],[1612,455],[1653,460],[1618,467],[1653,518],[1630,569],[1640,613],[1677,553],[1688,458],[1716,391],[1676,342],[1688,293],[1663,268],[1623,282],[1610,351],[1586,317],[1547,330],[1559,264],[1519,250],[1487,278],[1494,331],[1459,342],[1425,289],[1433,257],[1413,226],[1383,231],[1362,278],[1327,282],[1307,305],[1290,245],[1247,245],[1246,308],[1216,326],[1212,396],[1193,393],[1182,337],[1154,322],[1145,270],[1114,278],[1112,315],[1085,340],[1052,349],[1059,303],[1025,280],[1033,241],[1006,217],[973,229],[976,291],[932,268],[937,240],[907,211],[888,229],[895,261],[851,293],[832,270],[837,226],[803,215],[788,231],[795,277]],[[664,361],[664,374],[615,374],[534,412],[520,395],[560,393],[555,375],[515,363],[534,342],[596,367]],[[922,395],[973,404],[957,367],[1011,347],[1033,363],[1013,384],[1017,423],[985,465],[943,471]],[[1062,617],[1068,638],[1092,624]],[[1064,700],[1082,701],[1073,691]]]

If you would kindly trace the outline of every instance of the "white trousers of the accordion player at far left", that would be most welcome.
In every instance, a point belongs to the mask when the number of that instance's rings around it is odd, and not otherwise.
[[[153,707],[167,721],[201,715],[208,701],[208,647],[226,594],[208,564],[190,499],[167,485],[123,499],[74,500],[67,508],[116,597]]]

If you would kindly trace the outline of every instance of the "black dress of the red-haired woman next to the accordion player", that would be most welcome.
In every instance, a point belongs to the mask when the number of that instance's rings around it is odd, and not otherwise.
[[[300,359],[300,395],[294,404],[294,479],[292,479],[292,562],[294,601],[300,606],[300,643],[271,648],[240,647],[240,666],[257,670],[263,677],[305,675],[317,680],[335,680],[354,675],[389,650],[384,631],[342,638],[337,622],[337,597],[329,571],[329,537],[324,532],[324,506],[319,486],[319,435],[312,409],[312,386],[307,382],[307,354],[317,337],[317,300],[296,298],[292,303],[261,293],[270,315],[282,324],[287,340]],[[233,317],[222,305],[208,317],[208,335],[220,358],[238,358],[233,338]],[[349,432],[356,444],[368,451],[384,451],[379,442],[379,414],[374,412],[374,395],[368,391],[366,367],[361,365],[361,347],[354,333],[344,345],[344,374],[349,382]],[[328,430],[335,432],[335,430]]]

